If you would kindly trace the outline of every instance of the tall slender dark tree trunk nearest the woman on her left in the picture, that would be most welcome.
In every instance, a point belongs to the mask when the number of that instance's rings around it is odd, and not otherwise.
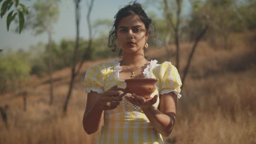
[[[68,106],[68,101],[71,97],[72,94],[72,89],[74,85],[74,79],[75,79],[75,65],[77,65],[77,53],[79,50],[79,23],[80,23],[80,0],[75,0],[75,27],[76,27],[76,37],[75,37],[75,50],[73,53],[73,63],[72,63],[72,68],[71,68],[71,81],[69,82],[69,89],[68,89],[68,94],[66,97],[66,101],[63,107],[63,112],[67,112],[67,106]]]

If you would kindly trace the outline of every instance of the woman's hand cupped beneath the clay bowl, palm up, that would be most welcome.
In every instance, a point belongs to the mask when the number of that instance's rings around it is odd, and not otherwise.
[[[141,108],[147,108],[156,103],[156,101],[158,100],[158,95],[156,94],[153,98],[145,99],[133,93],[133,94],[127,94],[125,98],[129,100],[133,105],[137,105]]]

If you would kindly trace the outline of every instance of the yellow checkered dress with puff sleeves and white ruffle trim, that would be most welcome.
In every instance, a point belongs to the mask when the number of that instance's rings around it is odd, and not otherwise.
[[[152,95],[174,92],[181,97],[181,79],[178,70],[170,62],[158,64],[151,61],[144,69],[146,78],[156,78],[156,87]],[[103,93],[110,87],[118,85],[125,88],[126,83],[120,79],[119,72],[122,70],[119,61],[100,63],[89,68],[85,74],[85,91]],[[159,97],[154,104],[159,105]],[[132,105],[126,99],[114,110],[104,111],[104,125],[97,143],[164,143],[162,136],[156,131],[144,115],[143,111]]]

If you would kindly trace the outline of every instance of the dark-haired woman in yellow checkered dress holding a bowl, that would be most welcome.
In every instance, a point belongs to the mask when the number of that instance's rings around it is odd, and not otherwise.
[[[139,3],[130,3],[115,16],[109,34],[109,46],[120,47],[121,60],[100,63],[85,74],[88,93],[83,118],[88,134],[101,129],[97,143],[163,143],[162,135],[170,135],[175,123],[177,98],[181,97],[181,79],[170,63],[148,61],[151,20]],[[136,94],[120,97],[125,79],[156,78],[154,97],[144,99]]]

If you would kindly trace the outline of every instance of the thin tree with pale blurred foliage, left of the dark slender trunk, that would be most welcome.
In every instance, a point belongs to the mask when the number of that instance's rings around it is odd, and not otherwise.
[[[32,28],[35,35],[46,33],[48,35],[47,58],[48,58],[48,75],[50,77],[50,100],[53,104],[53,62],[52,62],[52,35],[53,25],[59,17],[58,4],[60,0],[38,0],[33,4],[31,13],[27,16],[24,28]]]

